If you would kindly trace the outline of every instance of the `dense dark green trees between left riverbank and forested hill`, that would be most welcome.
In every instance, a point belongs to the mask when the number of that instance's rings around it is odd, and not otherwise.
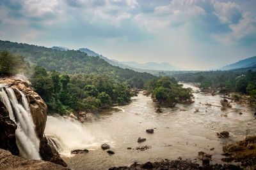
[[[30,67],[24,57],[0,52],[0,74],[33,73],[29,77],[33,89],[40,94],[49,108],[65,114],[71,111],[99,110],[113,104],[125,104],[136,95],[129,85],[120,83],[108,76],[95,74],[65,74],[58,71],[47,71],[44,67]],[[136,78],[129,80],[133,86]]]

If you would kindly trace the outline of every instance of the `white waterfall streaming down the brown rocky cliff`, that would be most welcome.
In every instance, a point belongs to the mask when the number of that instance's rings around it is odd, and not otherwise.
[[[39,139],[36,136],[35,125],[30,113],[28,101],[20,90],[16,89],[21,97],[22,103],[17,101],[13,89],[0,84],[0,99],[6,106],[9,116],[17,129],[15,131],[16,143],[20,156],[27,159],[41,159],[39,154]]]

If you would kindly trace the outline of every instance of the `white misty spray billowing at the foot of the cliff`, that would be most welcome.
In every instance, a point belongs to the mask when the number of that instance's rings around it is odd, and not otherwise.
[[[63,117],[47,117],[45,134],[61,155],[70,156],[70,151],[99,146],[90,131],[77,120]]]

